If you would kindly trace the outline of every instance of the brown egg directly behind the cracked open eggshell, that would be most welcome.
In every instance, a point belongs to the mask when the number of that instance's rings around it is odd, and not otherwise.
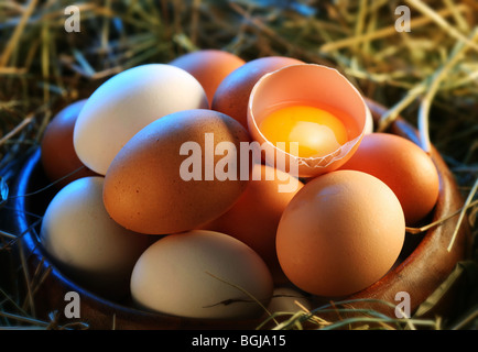
[[[265,74],[295,64],[303,62],[285,56],[267,56],[246,63],[217,87],[211,109],[230,116],[248,129],[248,101],[256,82]]]

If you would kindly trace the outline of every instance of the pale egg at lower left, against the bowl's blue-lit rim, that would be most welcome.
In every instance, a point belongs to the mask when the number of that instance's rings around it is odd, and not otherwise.
[[[131,273],[150,244],[106,212],[102,176],[76,179],[52,199],[43,217],[42,248],[76,284],[110,299],[129,294]]]

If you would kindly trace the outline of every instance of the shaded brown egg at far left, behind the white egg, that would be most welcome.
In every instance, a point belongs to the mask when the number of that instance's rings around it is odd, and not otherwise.
[[[85,102],[86,99],[78,100],[61,110],[50,121],[41,142],[44,172],[51,182],[57,182],[58,187],[96,175],[82,163],[73,145],[73,130]]]

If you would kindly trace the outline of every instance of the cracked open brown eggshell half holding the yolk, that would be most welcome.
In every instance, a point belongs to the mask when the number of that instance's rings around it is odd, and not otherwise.
[[[273,109],[290,103],[325,106],[338,112],[348,141],[325,156],[298,157],[276,147],[259,125]],[[304,178],[344,165],[372,130],[371,112],[359,91],[337,69],[316,64],[290,65],[262,76],[250,94],[247,119],[252,140],[263,146],[265,155],[273,156],[273,165],[281,169],[290,165]]]

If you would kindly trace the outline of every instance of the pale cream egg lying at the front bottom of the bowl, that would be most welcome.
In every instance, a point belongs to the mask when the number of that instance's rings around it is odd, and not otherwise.
[[[261,257],[230,235],[194,230],[167,235],[138,260],[134,304],[146,310],[202,319],[259,317],[273,293]]]

